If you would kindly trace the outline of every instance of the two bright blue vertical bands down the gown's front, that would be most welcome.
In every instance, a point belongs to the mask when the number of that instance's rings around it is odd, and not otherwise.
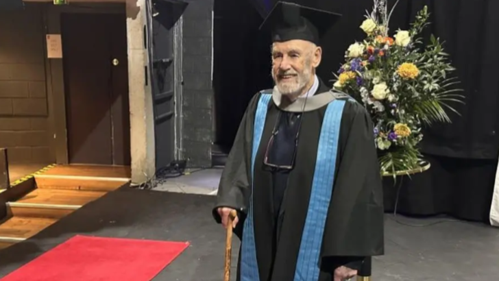
[[[261,95],[256,108],[252,147],[252,182],[256,153],[265,127],[267,108],[271,95]],[[339,129],[345,101],[334,100],[328,104],[319,136],[317,160],[308,205],[306,221],[302,233],[295,278],[293,281],[317,281],[319,279],[319,256],[321,251],[324,226],[328,216],[334,182],[334,171],[338,151]],[[260,281],[258,262],[256,261],[256,242],[253,217],[253,184],[249,197],[249,208],[243,225],[241,243],[241,281]],[[259,188],[263,188],[260,186]]]

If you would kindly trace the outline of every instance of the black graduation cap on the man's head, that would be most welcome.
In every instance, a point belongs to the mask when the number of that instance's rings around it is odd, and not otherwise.
[[[320,38],[341,18],[341,14],[296,3],[279,1],[267,15],[260,29],[272,34],[272,42],[307,40],[319,44]]]

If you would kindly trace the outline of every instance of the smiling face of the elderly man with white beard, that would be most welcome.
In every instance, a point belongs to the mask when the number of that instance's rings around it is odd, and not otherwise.
[[[272,46],[272,78],[282,95],[301,95],[313,81],[321,49],[305,40],[275,42]]]

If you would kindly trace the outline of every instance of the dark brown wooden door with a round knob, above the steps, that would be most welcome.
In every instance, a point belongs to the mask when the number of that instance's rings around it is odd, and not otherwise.
[[[62,14],[67,145],[73,164],[130,164],[124,14]]]

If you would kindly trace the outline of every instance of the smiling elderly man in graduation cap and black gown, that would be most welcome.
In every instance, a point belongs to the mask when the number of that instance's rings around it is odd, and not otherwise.
[[[263,23],[276,86],[249,103],[213,210],[241,238],[238,280],[350,280],[383,254],[369,115],[315,75],[319,38],[338,18],[279,2]],[[227,225],[231,210],[238,217]]]

